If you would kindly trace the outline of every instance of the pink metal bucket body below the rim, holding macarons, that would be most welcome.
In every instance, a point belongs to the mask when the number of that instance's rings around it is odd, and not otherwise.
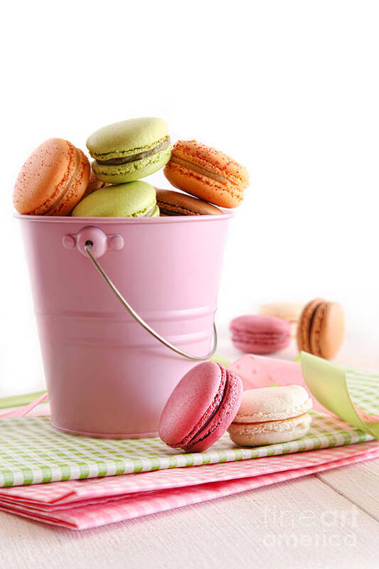
[[[95,437],[156,435],[171,391],[196,365],[127,313],[92,252],[139,316],[196,356],[210,350],[231,214],[21,220],[51,420]]]

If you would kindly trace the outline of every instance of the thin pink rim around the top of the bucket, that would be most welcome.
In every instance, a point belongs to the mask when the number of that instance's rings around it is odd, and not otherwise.
[[[162,224],[162,223],[201,223],[204,221],[223,221],[226,219],[231,219],[235,216],[234,211],[228,213],[220,213],[218,216],[162,216],[162,217],[141,217],[141,218],[116,218],[116,217],[71,217],[71,216],[28,216],[23,213],[14,213],[14,218],[23,221],[32,221],[38,223],[77,223],[82,225],[83,223],[90,223],[95,225],[96,223],[108,223],[108,224],[120,224],[123,225],[139,225],[141,223],[152,223]]]

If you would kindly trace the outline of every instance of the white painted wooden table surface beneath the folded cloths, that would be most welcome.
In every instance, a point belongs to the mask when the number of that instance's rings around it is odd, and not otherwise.
[[[293,347],[282,354],[293,356]],[[348,346],[338,359],[379,369],[379,356]],[[377,567],[378,482],[375,459],[82,532],[0,512],[0,567]]]

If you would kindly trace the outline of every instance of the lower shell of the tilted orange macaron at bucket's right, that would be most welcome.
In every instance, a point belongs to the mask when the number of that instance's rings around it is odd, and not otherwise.
[[[228,181],[215,180],[182,164],[170,161],[164,168],[164,175],[175,188],[222,208],[236,208],[243,199],[243,192]]]

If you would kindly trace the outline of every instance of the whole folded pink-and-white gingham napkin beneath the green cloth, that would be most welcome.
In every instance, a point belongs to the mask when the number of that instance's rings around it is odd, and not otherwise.
[[[379,457],[379,443],[187,469],[3,489],[0,509],[85,529],[295,479]]]

